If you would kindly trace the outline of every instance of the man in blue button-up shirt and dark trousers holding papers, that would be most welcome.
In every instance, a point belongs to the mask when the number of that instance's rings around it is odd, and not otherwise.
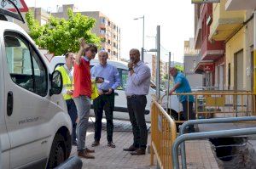
[[[95,135],[94,143],[92,146],[97,146],[100,144],[101,134],[102,134],[102,114],[105,110],[105,115],[107,119],[107,139],[108,146],[115,148],[113,144],[113,107],[114,107],[114,90],[119,87],[120,78],[119,72],[116,67],[109,65],[107,63],[108,53],[101,51],[98,54],[100,64],[94,66],[90,70],[92,78],[102,77],[104,82],[98,84],[99,97],[93,100],[93,108],[96,116],[95,121]]]

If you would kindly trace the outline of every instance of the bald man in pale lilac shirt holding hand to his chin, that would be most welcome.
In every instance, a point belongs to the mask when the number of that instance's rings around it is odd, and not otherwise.
[[[148,140],[145,107],[151,74],[148,65],[140,60],[140,51],[137,48],[130,50],[130,60],[125,94],[132,125],[133,144],[124,150],[131,151],[131,155],[145,155]]]

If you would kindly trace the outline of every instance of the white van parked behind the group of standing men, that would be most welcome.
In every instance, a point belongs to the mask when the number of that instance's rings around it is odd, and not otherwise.
[[[65,63],[65,57],[64,56],[55,56],[53,57],[50,62],[49,62],[49,70],[54,71],[55,68],[59,65],[64,65]],[[99,64],[99,60],[98,59],[92,59],[90,61],[90,66],[93,67],[94,65]],[[114,111],[116,112],[128,112],[127,110],[127,102],[126,102],[126,97],[125,97],[125,87],[126,87],[126,81],[127,81],[127,77],[128,77],[128,66],[127,63],[125,62],[120,62],[120,61],[113,61],[113,60],[108,60],[108,64],[115,66],[118,71],[119,71],[119,77],[120,77],[120,86],[114,91],[115,93],[115,99],[114,99]],[[149,110],[150,110],[150,105],[152,102],[152,95],[155,94],[155,85],[153,82],[151,82],[151,85],[149,87],[149,92],[147,95],[147,100],[148,100],[148,104],[146,105],[146,121],[150,121],[150,114],[149,114]],[[161,92],[161,96],[164,95],[164,92]],[[170,97],[170,104],[171,105],[171,110],[173,112],[180,112],[180,106],[179,106],[179,102],[177,99],[176,95],[172,95]],[[167,106],[167,97],[165,97],[163,99],[163,103],[162,106],[164,109],[166,109]],[[113,115],[113,117],[115,118],[117,115]],[[122,117],[119,117],[122,118]],[[128,120],[129,116],[125,115],[125,120]]]

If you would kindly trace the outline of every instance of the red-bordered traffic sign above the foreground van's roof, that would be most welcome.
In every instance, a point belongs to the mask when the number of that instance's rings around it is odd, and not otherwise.
[[[28,11],[28,8],[27,8],[26,3],[24,2],[24,0],[11,0],[11,1],[15,3],[17,8],[19,8],[20,12],[27,12]],[[9,3],[5,0],[1,0],[0,8],[4,8],[4,9],[8,9],[9,11],[16,12],[16,9],[14,8],[14,5],[12,5],[11,3]]]

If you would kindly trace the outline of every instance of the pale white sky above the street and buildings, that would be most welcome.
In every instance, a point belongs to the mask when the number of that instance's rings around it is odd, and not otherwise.
[[[160,25],[161,59],[183,62],[183,43],[194,37],[194,5],[190,0],[25,0],[28,7],[55,12],[57,5],[74,4],[79,11],[101,11],[121,29],[121,58],[128,59],[131,48],[155,48],[156,27]]]

